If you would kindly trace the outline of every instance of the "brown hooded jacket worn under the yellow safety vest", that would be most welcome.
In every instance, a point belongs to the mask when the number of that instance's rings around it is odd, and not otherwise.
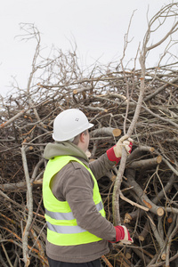
[[[89,163],[85,153],[71,142],[49,143],[44,150],[44,158],[69,155],[80,159],[89,166],[98,180],[115,162],[109,161],[107,154]],[[46,254],[56,261],[86,263],[109,253],[109,241],[115,240],[116,231],[112,223],[101,216],[93,202],[93,178],[84,166],[73,161],[64,166],[53,177],[53,195],[68,201],[77,219],[77,224],[102,240],[85,245],[55,246],[46,241]]]

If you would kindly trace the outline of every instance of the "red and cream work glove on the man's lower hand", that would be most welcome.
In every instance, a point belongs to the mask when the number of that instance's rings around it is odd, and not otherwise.
[[[129,231],[126,229],[124,225],[115,226],[116,229],[116,241],[112,241],[111,243],[121,242],[122,244],[131,245],[134,241],[130,237]]]

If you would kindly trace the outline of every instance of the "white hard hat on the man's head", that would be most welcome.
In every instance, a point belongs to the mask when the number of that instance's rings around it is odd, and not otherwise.
[[[66,109],[53,121],[53,140],[67,141],[93,127],[79,109]]]

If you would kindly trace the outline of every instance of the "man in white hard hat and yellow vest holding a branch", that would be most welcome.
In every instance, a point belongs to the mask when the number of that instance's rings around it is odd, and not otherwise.
[[[100,179],[132,142],[122,137],[117,145],[89,163],[88,122],[79,109],[62,111],[53,123],[53,140],[44,150],[49,159],[44,171],[43,198],[47,222],[46,254],[51,267],[101,266],[109,242],[133,242],[125,226],[105,218],[96,179]]]

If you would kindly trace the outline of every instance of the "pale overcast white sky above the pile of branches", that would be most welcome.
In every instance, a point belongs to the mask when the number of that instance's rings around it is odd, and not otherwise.
[[[119,61],[124,36],[130,28],[132,43],[125,60],[135,57],[147,28],[147,11],[152,17],[169,0],[6,0],[0,9],[0,94],[5,95],[16,81],[20,88],[28,84],[36,42],[22,41],[20,23],[33,23],[41,33],[41,45],[54,45],[64,53],[77,44],[77,53],[85,66]],[[154,57],[150,65],[154,64]],[[151,66],[152,67],[152,66]]]

